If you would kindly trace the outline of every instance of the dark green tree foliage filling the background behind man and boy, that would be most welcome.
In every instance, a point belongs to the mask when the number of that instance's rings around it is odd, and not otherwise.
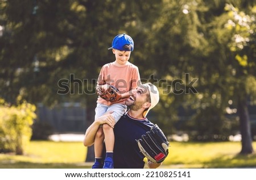
[[[89,125],[98,72],[114,60],[107,48],[119,33],[133,37],[130,61],[142,79],[159,87],[149,115],[164,132],[226,135],[237,128],[227,116],[238,116],[239,101],[256,102],[253,0],[24,0],[3,1],[0,12],[0,94],[11,104],[19,95],[81,102]],[[61,80],[67,94],[57,93]]]

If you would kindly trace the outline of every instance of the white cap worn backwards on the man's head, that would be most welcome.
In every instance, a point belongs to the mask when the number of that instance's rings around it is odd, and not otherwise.
[[[150,92],[150,101],[151,101],[151,106],[148,108],[147,111],[143,112],[144,118],[148,114],[148,111],[150,111],[155,105],[159,102],[159,91],[158,88],[153,85],[152,83],[145,83],[143,86],[146,86],[148,91]]]

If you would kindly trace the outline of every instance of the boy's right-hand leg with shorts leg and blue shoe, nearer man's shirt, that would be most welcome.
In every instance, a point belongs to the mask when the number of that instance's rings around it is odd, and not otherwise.
[[[113,104],[108,108],[108,111],[114,111],[113,116],[115,118],[115,123],[121,118],[121,116],[126,111],[126,106],[124,104]],[[114,130],[108,124],[103,124],[103,132],[105,136],[105,146],[106,146],[106,157],[104,161],[104,169],[114,168],[113,162],[113,150],[114,150]]]

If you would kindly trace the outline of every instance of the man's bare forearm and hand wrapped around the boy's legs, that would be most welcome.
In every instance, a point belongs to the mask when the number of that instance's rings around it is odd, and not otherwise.
[[[106,114],[94,120],[94,122],[86,129],[83,141],[84,146],[91,146],[94,144],[96,132],[98,131],[98,127],[100,127],[101,124],[107,123],[110,125],[110,127],[114,128],[115,120],[112,113],[113,111],[106,112]]]

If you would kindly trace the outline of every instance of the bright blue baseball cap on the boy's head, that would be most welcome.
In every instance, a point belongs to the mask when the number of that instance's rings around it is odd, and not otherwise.
[[[126,44],[131,45],[131,49],[127,50],[126,48],[124,48],[123,46]],[[133,39],[129,35],[119,34],[114,37],[112,41],[112,47],[108,49],[117,49],[119,51],[133,51],[133,47]]]

